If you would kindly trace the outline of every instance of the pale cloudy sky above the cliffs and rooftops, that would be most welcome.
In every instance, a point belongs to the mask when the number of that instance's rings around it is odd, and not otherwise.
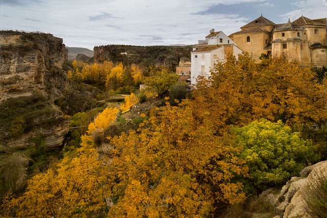
[[[327,17],[326,0],[0,0],[0,30],[51,33],[69,47],[196,44],[263,15]]]

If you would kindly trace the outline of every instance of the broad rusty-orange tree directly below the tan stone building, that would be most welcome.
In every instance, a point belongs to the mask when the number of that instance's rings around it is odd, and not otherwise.
[[[327,116],[327,91],[314,76],[309,68],[284,59],[255,64],[248,54],[238,61],[229,56],[214,66],[211,78],[198,81],[194,111],[200,119],[204,112],[215,114],[220,130],[260,118],[321,126]]]

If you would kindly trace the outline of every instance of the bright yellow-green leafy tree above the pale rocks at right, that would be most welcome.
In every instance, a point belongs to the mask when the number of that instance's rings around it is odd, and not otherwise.
[[[250,186],[263,191],[284,184],[308,164],[312,143],[301,139],[298,132],[284,125],[262,119],[244,127],[231,128],[236,144],[243,148],[241,157],[247,161]]]

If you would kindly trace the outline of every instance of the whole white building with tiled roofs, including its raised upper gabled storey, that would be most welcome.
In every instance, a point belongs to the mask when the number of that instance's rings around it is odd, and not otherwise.
[[[211,76],[214,64],[217,61],[226,61],[228,54],[238,58],[243,52],[226,34],[222,31],[215,32],[214,29],[205,37],[205,41],[199,40],[199,43],[191,52],[191,85],[196,84],[199,76]]]

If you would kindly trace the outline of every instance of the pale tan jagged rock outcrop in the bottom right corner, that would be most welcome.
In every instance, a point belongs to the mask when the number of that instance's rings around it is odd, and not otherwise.
[[[281,191],[274,189],[264,191],[260,198],[276,207],[278,216],[274,218],[295,218],[312,216],[308,213],[307,198],[315,191],[322,180],[327,179],[327,160],[304,168],[300,177],[292,177]]]

